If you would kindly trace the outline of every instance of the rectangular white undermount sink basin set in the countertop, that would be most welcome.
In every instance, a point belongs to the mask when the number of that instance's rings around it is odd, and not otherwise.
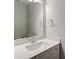
[[[32,44],[25,46],[25,47],[28,51],[34,51],[34,50],[39,49],[43,45],[49,45],[49,44],[46,43],[46,42],[40,41],[40,42],[37,42],[37,43],[32,43]]]

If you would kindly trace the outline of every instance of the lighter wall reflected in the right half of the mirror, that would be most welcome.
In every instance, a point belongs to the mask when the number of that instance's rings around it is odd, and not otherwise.
[[[31,3],[27,7],[27,31],[33,35],[43,35],[43,5]]]

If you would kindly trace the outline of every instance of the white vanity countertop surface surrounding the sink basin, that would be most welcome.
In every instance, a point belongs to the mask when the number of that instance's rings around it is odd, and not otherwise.
[[[21,44],[21,45],[15,46],[14,59],[30,59],[30,58],[32,58],[32,57],[44,52],[45,50],[60,43],[58,41],[54,41],[51,39],[42,39],[41,41],[46,41],[50,44],[49,45],[42,45],[40,48],[38,48],[37,50],[34,50],[34,51],[28,51],[25,47],[27,45],[30,45],[31,43],[26,43],[26,44]]]

